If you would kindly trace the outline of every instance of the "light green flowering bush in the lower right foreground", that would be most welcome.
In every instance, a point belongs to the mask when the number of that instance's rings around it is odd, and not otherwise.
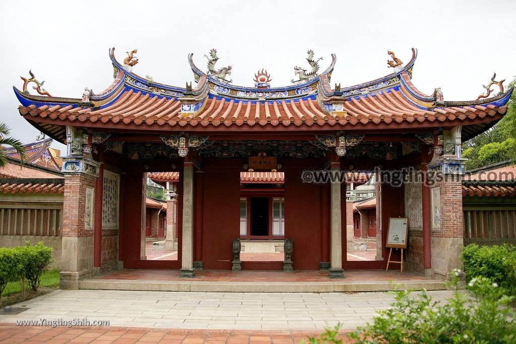
[[[453,271],[453,297],[433,301],[426,290],[395,292],[392,308],[350,337],[357,343],[514,343],[516,321],[507,290],[486,277],[472,279],[459,290],[460,271]]]

